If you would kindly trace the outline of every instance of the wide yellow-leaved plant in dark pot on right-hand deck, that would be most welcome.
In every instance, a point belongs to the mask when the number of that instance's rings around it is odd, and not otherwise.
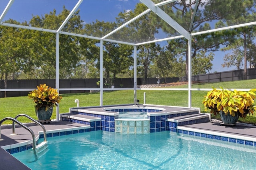
[[[256,110],[254,99],[256,89],[248,92],[224,90],[222,87],[216,89],[212,87],[206,96],[204,96],[204,109],[211,109],[211,113],[217,115],[220,113],[222,122],[227,125],[234,125],[239,117],[246,117],[247,114],[253,114]]]

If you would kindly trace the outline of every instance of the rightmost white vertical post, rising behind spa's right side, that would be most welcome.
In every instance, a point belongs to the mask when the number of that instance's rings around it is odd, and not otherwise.
[[[191,60],[192,60],[192,38],[190,35],[190,39],[188,39],[188,107],[191,107],[191,80],[192,80],[192,69],[191,69]]]

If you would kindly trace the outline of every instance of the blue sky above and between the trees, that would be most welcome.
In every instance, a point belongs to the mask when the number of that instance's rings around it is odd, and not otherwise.
[[[8,2],[8,0],[0,0],[1,14]],[[72,10],[77,2],[77,0],[16,0],[3,21],[9,18],[20,22],[29,21],[32,16],[44,16],[44,14],[49,14],[54,9],[58,14],[62,11],[63,6]],[[115,21],[120,12],[134,10],[137,3],[139,3],[139,0],[84,0],[79,7],[80,16],[85,23],[96,20]],[[166,44],[166,42],[163,42],[163,44]],[[212,72],[235,69],[234,67],[222,68],[221,64],[224,62],[223,57],[226,53],[215,52]]]

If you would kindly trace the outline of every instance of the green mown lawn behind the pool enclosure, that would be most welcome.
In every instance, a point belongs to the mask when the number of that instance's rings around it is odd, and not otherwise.
[[[200,83],[193,84],[192,88],[255,88],[256,79],[240,80],[233,82],[218,82],[218,83]],[[172,88],[187,88],[187,85],[172,86]],[[165,87],[166,88],[166,87]],[[167,87],[170,88],[170,87]],[[137,90],[137,99],[140,104],[143,104],[144,92],[146,92],[146,104],[166,105],[166,106],[188,106],[187,91],[167,91],[167,90]],[[201,112],[204,111],[202,100],[205,91],[192,91],[192,107],[200,107]],[[79,94],[63,94],[63,99],[60,102],[60,113],[69,112],[70,107],[76,107],[75,99],[79,99],[80,106],[99,106],[100,93],[79,93]],[[117,90],[106,91],[103,94],[104,105],[114,104],[132,104],[134,102],[134,90]],[[206,111],[206,112],[209,112]],[[0,120],[4,117],[15,117],[18,114],[27,114],[34,119],[37,119],[34,103],[28,96],[0,98]],[[54,107],[52,119],[56,119],[56,107]],[[220,119],[219,116],[212,115],[212,118]],[[30,122],[26,117],[19,117],[21,122]],[[246,119],[239,118],[240,122],[256,125],[256,113],[247,116]],[[10,124],[11,121],[4,121],[3,124]]]

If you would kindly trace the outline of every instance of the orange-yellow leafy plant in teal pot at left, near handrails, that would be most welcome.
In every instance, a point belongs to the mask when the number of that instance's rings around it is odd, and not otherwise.
[[[33,99],[36,103],[35,111],[38,120],[50,121],[52,107],[58,106],[62,96],[59,96],[57,89],[46,86],[46,84],[40,84],[37,89],[29,92],[28,98]]]

